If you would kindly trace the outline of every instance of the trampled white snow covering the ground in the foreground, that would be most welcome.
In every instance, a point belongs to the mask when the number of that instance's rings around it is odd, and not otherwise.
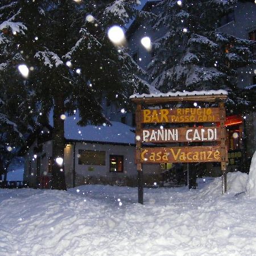
[[[256,198],[247,174],[199,189],[84,185],[0,189],[0,255],[256,255]]]

